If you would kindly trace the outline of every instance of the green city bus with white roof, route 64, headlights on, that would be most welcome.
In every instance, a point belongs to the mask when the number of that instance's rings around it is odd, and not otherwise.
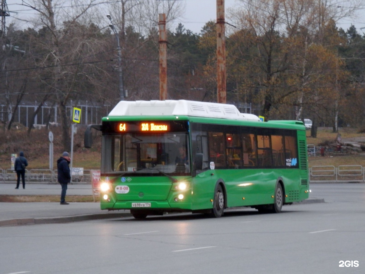
[[[230,207],[259,212],[308,198],[306,128],[262,122],[230,104],[121,101],[101,125],[100,207],[135,218],[165,212],[220,217]]]

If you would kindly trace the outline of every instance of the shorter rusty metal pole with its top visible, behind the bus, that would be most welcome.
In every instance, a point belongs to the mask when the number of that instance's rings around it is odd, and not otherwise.
[[[166,15],[161,13],[158,15],[158,27],[160,29],[160,100],[167,99],[167,39],[166,39]]]

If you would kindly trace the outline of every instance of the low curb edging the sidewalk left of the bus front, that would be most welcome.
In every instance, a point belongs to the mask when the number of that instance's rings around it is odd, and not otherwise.
[[[14,225],[34,225],[34,224],[57,224],[62,222],[77,222],[85,220],[107,219],[107,218],[120,218],[130,217],[130,213],[99,213],[99,214],[86,214],[86,215],[73,215],[66,217],[48,217],[48,218],[18,218],[0,220],[0,227],[14,226]]]

